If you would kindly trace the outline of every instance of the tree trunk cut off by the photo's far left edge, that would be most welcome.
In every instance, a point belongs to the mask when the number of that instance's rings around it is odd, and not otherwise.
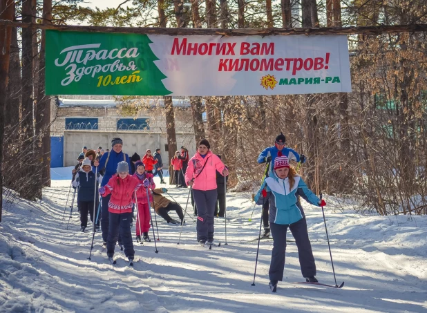
[[[0,19],[12,21],[15,12],[15,1],[6,0],[0,2]],[[9,79],[10,41],[12,40],[12,28],[0,26],[0,222],[3,211],[3,139],[5,124],[6,95]]]

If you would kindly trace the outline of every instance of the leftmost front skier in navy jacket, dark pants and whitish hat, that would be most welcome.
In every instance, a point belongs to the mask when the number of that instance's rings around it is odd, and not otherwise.
[[[91,222],[96,219],[96,211],[95,216],[93,216],[93,199],[95,197],[95,208],[97,209],[99,204],[99,195],[98,182],[95,183],[95,180],[98,179],[99,173],[97,173],[97,177],[95,177],[95,173],[93,173],[91,167],[91,160],[88,158],[84,159],[82,167],[76,173],[75,180],[73,182],[73,187],[78,187],[77,203],[79,204],[80,209],[80,231],[82,232],[84,232],[86,227],[88,227],[88,214],[91,216]],[[97,221],[97,224],[95,225],[95,231],[99,231],[99,221]]]

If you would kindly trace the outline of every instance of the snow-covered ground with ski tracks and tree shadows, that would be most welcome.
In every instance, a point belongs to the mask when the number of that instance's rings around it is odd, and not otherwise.
[[[254,207],[249,194],[227,195],[228,245],[224,219],[215,220],[221,247],[209,251],[196,245],[190,204],[181,245],[176,244],[180,227],[158,217],[159,253],[153,241],[135,243],[134,268],[126,267],[117,250],[113,268],[100,234],[87,260],[91,233],[79,232],[77,212],[66,230],[69,173],[70,168],[52,169],[53,187],[44,189],[41,202],[21,201],[3,211],[0,312],[427,312],[426,216],[332,214],[330,205],[325,213],[336,279],[345,286],[292,284],[303,278],[296,247],[289,243],[284,281],[272,294],[267,286],[271,241],[260,243],[251,286],[256,243],[245,241],[258,235],[260,208],[249,222]],[[170,187],[169,193],[185,207],[188,189]],[[317,278],[333,284],[321,210],[304,207]]]

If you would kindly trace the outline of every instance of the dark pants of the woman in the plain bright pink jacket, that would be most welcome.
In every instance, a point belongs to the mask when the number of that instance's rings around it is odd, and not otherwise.
[[[197,240],[214,240],[214,212],[218,193],[216,189],[193,189],[194,202],[197,205]]]

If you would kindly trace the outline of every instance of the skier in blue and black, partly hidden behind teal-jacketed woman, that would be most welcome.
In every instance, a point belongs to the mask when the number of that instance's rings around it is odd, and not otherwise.
[[[276,137],[276,142],[274,142],[274,146],[269,146],[263,150],[263,152],[258,155],[258,163],[265,163],[267,162],[269,166],[269,170],[266,172],[265,177],[270,176],[273,172],[271,164],[274,164],[274,160],[276,157],[285,155],[288,160],[295,161],[295,162],[305,162],[305,155],[301,154],[301,157],[296,151],[293,149],[285,147],[286,143],[286,137],[283,135],[283,133],[280,133]],[[263,205],[263,224],[264,224],[264,234],[263,237],[269,237],[270,236],[270,227],[268,223],[268,208],[269,208],[269,200],[265,202]]]

